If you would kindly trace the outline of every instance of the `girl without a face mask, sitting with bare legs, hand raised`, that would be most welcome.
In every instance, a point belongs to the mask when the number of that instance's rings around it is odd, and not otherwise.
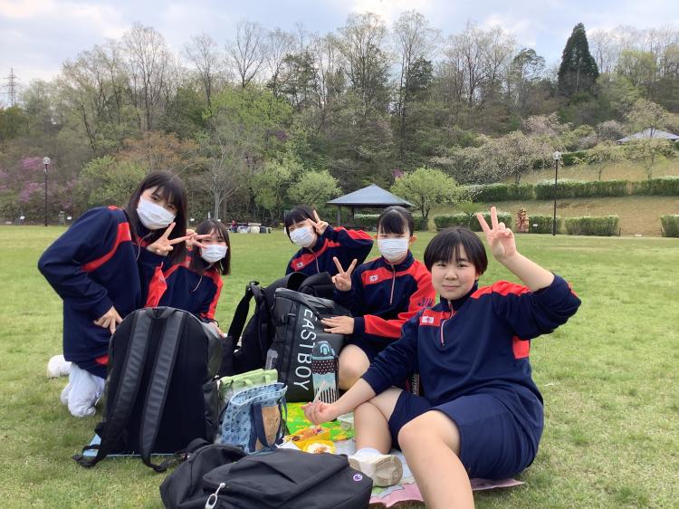
[[[521,255],[512,230],[491,208],[479,223],[495,258],[524,285],[477,287],[488,261],[479,237],[448,228],[426,246],[425,264],[441,295],[403,326],[335,403],[305,407],[314,424],[356,408],[358,451],[349,463],[376,485],[396,484],[406,456],[427,507],[473,507],[471,477],[501,479],[531,465],[543,427],[531,378],[530,340],[567,322],[580,304],[569,284]],[[426,397],[392,387],[419,372]]]

